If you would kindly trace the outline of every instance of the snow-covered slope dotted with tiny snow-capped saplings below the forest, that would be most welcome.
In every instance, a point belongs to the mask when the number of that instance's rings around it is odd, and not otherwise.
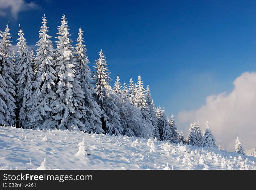
[[[46,137],[45,137],[46,135]],[[84,142],[80,143],[83,140]],[[79,149],[79,144],[81,147]],[[90,148],[91,155],[82,155]],[[78,149],[80,150],[79,153]],[[89,151],[88,151],[89,152]],[[92,157],[92,158],[90,158]],[[31,163],[29,163],[31,158]],[[40,167],[42,161],[46,161]],[[168,163],[168,167],[167,167]],[[256,169],[256,157],[136,137],[0,127],[0,169]]]

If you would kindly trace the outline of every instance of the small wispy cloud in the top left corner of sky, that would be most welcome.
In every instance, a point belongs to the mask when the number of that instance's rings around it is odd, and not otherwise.
[[[10,12],[16,19],[19,12],[37,7],[34,2],[26,3],[24,0],[0,0],[0,16],[6,16]]]

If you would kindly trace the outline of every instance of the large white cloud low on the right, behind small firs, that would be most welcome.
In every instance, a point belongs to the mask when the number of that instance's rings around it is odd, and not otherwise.
[[[223,148],[234,151],[236,136],[244,149],[256,147],[256,73],[243,73],[233,84],[230,94],[210,95],[198,110],[180,112],[178,120],[184,130],[188,131],[189,122],[199,121],[204,131],[209,120],[217,144]]]

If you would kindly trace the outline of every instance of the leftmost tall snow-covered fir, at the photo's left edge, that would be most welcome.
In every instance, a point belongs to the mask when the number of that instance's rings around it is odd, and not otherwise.
[[[1,109],[4,110],[4,118],[2,118],[3,121],[5,121],[6,125],[14,125],[16,122],[15,119],[15,109],[17,108],[15,105],[15,66],[13,63],[13,54],[12,54],[12,44],[10,39],[12,38],[10,36],[10,28],[8,26],[8,23],[6,25],[5,31],[1,34],[1,71],[0,74],[2,76],[2,85],[1,90],[3,91],[3,99],[5,102],[6,107],[4,104]],[[3,103],[3,102],[2,102]]]

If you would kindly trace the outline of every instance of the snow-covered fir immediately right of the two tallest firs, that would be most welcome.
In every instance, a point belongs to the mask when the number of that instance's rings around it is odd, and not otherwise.
[[[86,54],[86,45],[84,45],[83,41],[83,30],[79,28],[78,38],[77,38],[76,46],[76,60],[79,69],[79,75],[77,75],[78,80],[80,80],[81,88],[83,89],[84,94],[84,106],[86,115],[83,115],[83,119],[85,120],[85,125],[88,128],[88,133],[104,133],[102,129],[102,122],[100,121],[102,111],[93,99],[93,95],[96,94],[96,91],[92,85],[91,79],[91,70],[88,66],[89,59]],[[90,126],[88,126],[88,124]]]

